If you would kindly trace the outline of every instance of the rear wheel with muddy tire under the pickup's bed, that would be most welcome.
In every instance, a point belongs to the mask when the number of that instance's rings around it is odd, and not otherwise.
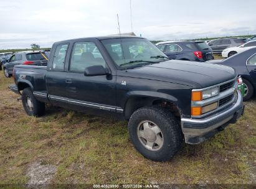
[[[45,104],[38,101],[31,88],[25,88],[21,95],[23,108],[29,116],[42,116],[45,113]]]

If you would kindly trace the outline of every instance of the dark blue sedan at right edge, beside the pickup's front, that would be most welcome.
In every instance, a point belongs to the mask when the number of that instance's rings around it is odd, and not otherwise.
[[[242,77],[245,85],[244,101],[256,94],[256,47],[224,60],[212,60],[209,63],[217,63],[234,68]]]

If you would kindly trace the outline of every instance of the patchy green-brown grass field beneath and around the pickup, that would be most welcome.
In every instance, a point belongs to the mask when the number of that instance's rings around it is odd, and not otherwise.
[[[152,162],[136,152],[127,122],[50,106],[41,118],[27,116],[11,83],[0,74],[0,184],[27,183],[37,161],[57,166],[52,183],[255,183],[255,99],[237,124]]]

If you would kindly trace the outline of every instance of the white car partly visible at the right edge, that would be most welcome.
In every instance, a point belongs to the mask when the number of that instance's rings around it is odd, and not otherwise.
[[[244,52],[245,50],[248,50],[254,47],[256,47],[256,40],[250,40],[249,42],[243,45],[240,45],[238,47],[225,48],[221,54],[222,54],[222,57],[227,58],[227,57],[231,57],[236,53]]]

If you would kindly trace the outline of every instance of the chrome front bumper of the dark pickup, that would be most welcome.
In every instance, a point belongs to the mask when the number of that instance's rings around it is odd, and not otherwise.
[[[181,126],[188,144],[199,144],[222,131],[229,124],[234,124],[244,114],[243,98],[237,91],[237,101],[229,107],[204,119],[181,119]]]

